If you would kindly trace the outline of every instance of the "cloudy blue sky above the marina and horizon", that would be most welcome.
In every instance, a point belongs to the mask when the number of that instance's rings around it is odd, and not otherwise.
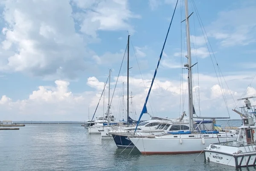
[[[176,3],[142,119],[188,114],[183,1],[1,0],[0,120],[102,115],[109,69],[110,110],[126,120],[128,34],[129,114],[138,119]],[[239,119],[232,109],[244,102],[237,99],[256,96],[256,1],[188,0],[188,7],[196,114]]]

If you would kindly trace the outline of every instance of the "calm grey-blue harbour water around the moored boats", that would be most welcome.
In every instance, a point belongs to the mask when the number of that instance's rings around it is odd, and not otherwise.
[[[241,125],[241,121],[232,123]],[[236,170],[204,162],[204,154],[144,156],[136,149],[130,151],[117,149],[113,140],[89,135],[81,124],[27,124],[20,130],[0,130],[0,171]]]

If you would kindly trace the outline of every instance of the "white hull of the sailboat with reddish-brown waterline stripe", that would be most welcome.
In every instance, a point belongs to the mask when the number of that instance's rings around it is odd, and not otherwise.
[[[189,154],[200,153],[207,146],[213,143],[235,141],[237,137],[217,138],[216,134],[209,134],[204,137],[203,134],[187,135],[163,135],[155,138],[130,138],[131,142],[137,147],[142,154]],[[191,137],[194,136],[194,137]],[[203,138],[204,137],[204,138]]]

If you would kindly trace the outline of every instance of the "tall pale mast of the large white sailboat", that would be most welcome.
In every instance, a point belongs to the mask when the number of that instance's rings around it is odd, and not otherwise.
[[[186,37],[187,37],[187,58],[188,58],[188,70],[189,70],[189,130],[194,130],[193,121],[193,92],[192,92],[192,67],[191,67],[191,49],[190,49],[190,33],[189,33],[189,12],[188,12],[188,0],[185,0],[186,10]]]

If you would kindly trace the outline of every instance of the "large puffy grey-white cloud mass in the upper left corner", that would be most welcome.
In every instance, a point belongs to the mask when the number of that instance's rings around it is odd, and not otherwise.
[[[69,0],[5,1],[2,45],[15,54],[2,70],[69,78],[85,70],[88,54],[71,16]]]

